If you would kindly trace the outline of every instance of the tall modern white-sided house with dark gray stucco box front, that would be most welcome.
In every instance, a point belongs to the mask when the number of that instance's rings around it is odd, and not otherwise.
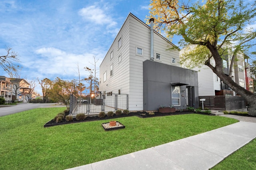
[[[179,65],[179,49],[129,14],[100,64],[99,90],[106,97],[128,94],[128,109],[198,107],[197,72]],[[170,47],[175,49],[168,50]]]

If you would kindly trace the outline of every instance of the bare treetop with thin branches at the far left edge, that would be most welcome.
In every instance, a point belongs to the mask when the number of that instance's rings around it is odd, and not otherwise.
[[[12,51],[12,48],[6,47],[6,55],[0,55],[0,66],[5,72],[10,73],[16,69],[16,62],[19,62],[18,54]]]

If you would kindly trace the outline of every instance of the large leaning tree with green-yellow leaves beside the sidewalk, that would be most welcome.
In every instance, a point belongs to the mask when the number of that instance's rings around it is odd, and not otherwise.
[[[181,64],[189,60],[191,67],[205,64],[232,90],[245,98],[249,114],[256,115],[256,95],[232,80],[232,68],[239,53],[249,53],[255,45],[256,32],[250,28],[256,16],[256,2],[244,4],[242,0],[206,0],[190,4],[178,0],[151,0],[150,16],[157,30],[168,37],[182,36],[181,47],[189,52]],[[249,25],[249,27],[248,27]],[[232,59],[230,72],[223,72],[222,58],[228,53]],[[225,54],[226,55],[226,54]],[[213,62],[212,62],[213,61]]]

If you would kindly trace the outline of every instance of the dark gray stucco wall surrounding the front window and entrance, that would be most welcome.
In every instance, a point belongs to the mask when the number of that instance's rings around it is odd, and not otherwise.
[[[143,109],[158,110],[160,105],[172,104],[170,83],[186,83],[194,86],[194,104],[198,108],[198,76],[197,72],[178,66],[162,64],[156,61],[143,62]],[[183,91],[184,89],[184,91]],[[186,85],[180,86],[180,106],[186,109]]]

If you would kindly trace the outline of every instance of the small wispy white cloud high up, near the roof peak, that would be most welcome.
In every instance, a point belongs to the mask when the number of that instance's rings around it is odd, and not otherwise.
[[[105,14],[106,12],[95,5],[88,6],[79,10],[78,14],[82,16],[85,20],[89,20],[96,24],[106,24],[108,27],[114,27],[117,23],[111,16]]]

